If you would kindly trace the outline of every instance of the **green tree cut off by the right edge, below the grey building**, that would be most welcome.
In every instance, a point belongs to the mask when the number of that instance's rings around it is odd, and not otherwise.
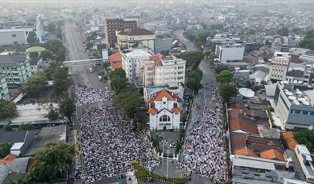
[[[314,131],[299,131],[294,135],[294,138],[298,144],[304,144],[312,154],[314,153]]]

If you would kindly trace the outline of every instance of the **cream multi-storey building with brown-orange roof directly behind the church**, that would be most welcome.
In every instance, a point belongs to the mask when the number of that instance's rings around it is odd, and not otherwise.
[[[185,63],[184,59],[160,53],[140,59],[141,81],[144,86],[184,84]]]

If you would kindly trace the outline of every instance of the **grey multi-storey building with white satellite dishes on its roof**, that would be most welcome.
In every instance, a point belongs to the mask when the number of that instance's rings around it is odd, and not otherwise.
[[[302,81],[278,81],[273,107],[286,129],[314,130],[314,90]]]

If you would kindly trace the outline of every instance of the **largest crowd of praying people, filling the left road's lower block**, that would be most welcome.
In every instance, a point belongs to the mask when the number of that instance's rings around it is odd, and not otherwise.
[[[117,107],[85,108],[79,127],[83,169],[77,168],[77,178],[87,183],[131,172],[132,160],[148,169],[148,153],[151,169],[160,164],[148,151],[148,139],[133,130],[131,120]]]

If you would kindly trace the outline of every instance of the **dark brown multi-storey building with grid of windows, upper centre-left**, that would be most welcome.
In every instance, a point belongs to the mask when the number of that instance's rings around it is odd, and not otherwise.
[[[105,42],[114,47],[117,44],[116,28],[135,29],[136,21],[124,21],[123,19],[106,19],[105,20]]]

